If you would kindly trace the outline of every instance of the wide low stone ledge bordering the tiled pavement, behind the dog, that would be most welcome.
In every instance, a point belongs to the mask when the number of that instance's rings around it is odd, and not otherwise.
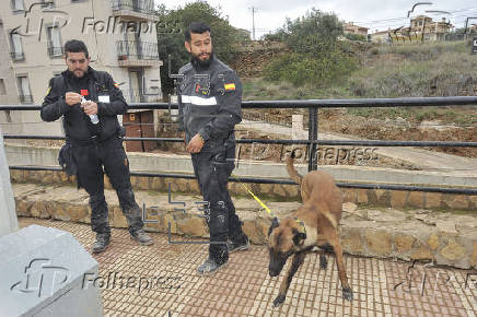
[[[177,188],[184,183],[176,184]],[[197,188],[196,188],[197,189]],[[14,184],[16,213],[20,216],[90,223],[89,197],[73,186]],[[209,231],[195,201],[199,196],[167,195],[138,190],[137,201],[144,206],[146,228],[150,232],[191,237],[208,237]],[[127,222],[114,190],[106,189],[109,224],[126,228]],[[254,244],[268,243],[270,216],[253,200],[234,198],[235,208],[243,221],[243,230]],[[279,219],[290,215],[299,202],[267,201]],[[178,211],[176,208],[184,208]],[[432,260],[438,265],[468,269],[477,266],[477,215],[429,211],[396,210],[387,208],[358,208],[345,203],[339,225],[344,250],[351,255],[397,258],[403,260]],[[174,237],[172,237],[174,239]]]

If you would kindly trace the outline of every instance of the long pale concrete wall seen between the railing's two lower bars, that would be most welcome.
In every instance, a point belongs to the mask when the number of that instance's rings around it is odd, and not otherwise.
[[[10,165],[59,167],[57,161],[59,149],[7,144],[5,151]],[[188,155],[130,152],[128,157],[130,168],[133,172],[194,173]],[[244,160],[240,161],[234,169],[234,175],[237,176],[289,178],[282,163],[257,163]],[[319,168],[330,173],[338,181],[477,187],[477,175],[455,176],[452,173],[443,172],[344,165],[327,165]],[[299,164],[298,169],[304,175],[306,173],[305,164]]]

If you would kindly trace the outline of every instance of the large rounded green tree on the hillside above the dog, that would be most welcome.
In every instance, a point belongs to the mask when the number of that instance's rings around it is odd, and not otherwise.
[[[286,43],[292,54],[271,62],[266,79],[319,85],[348,74],[356,61],[347,44],[338,40],[342,35],[342,24],[335,14],[314,8],[294,21],[287,19],[282,28],[266,38]]]

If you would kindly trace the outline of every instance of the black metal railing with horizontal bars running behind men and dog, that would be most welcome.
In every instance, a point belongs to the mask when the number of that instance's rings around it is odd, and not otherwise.
[[[418,98],[363,98],[363,99],[309,99],[309,101],[251,101],[243,102],[242,108],[309,108],[309,139],[307,140],[263,140],[240,139],[237,143],[263,144],[302,144],[307,146],[309,171],[317,168],[316,152],[318,145],[362,145],[362,146],[417,146],[417,148],[477,148],[477,142],[453,141],[382,141],[382,140],[319,140],[318,139],[318,109],[319,108],[352,108],[352,107],[430,107],[430,106],[463,106],[477,105],[477,97],[418,97]],[[177,104],[167,103],[136,103],[130,109],[177,109]],[[0,110],[39,110],[39,106],[0,106]],[[35,140],[63,140],[65,137],[50,136],[12,136],[5,134],[4,139],[35,139]],[[182,138],[125,138],[126,141],[158,141],[184,142]],[[59,167],[42,166],[10,166],[11,169],[27,171],[61,171]],[[133,176],[188,178],[191,175],[131,172]],[[230,181],[237,181],[234,177]],[[288,179],[241,177],[241,181],[260,184],[295,184]],[[442,188],[429,186],[406,186],[397,184],[350,184],[338,183],[344,188],[385,189],[385,190],[412,190],[461,195],[477,195],[474,188]]]

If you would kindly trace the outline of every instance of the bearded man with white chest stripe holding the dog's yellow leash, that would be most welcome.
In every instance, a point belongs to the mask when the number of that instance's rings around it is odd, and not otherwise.
[[[185,38],[191,61],[179,70],[179,131],[185,131],[186,150],[191,153],[203,200],[209,203],[209,257],[198,268],[207,274],[222,268],[229,253],[249,246],[228,190],[234,168],[234,127],[242,120],[242,83],[213,55],[209,26],[194,22]]]

